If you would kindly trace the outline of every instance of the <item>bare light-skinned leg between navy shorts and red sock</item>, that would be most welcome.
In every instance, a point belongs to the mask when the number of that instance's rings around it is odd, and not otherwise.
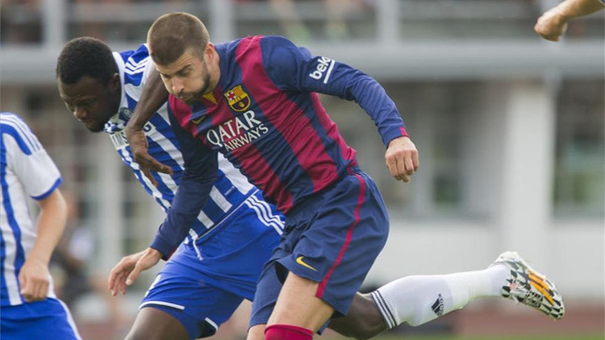
[[[317,298],[319,283],[288,273],[268,325],[295,325],[316,332],[332,316],[332,306]]]

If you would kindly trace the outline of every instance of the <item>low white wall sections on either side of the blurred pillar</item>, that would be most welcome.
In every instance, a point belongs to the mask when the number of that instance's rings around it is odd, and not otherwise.
[[[486,268],[508,249],[498,226],[472,221],[392,221],[391,233],[367,283],[382,284],[402,276],[445,274]],[[603,225],[598,222],[551,223],[544,235],[543,263],[520,254],[535,270],[557,284],[567,301],[603,299]],[[531,246],[531,240],[526,240]]]

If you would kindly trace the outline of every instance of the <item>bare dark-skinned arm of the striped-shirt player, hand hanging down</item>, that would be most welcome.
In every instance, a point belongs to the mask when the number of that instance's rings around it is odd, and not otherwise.
[[[151,63],[151,62],[150,62]],[[126,139],[134,155],[134,160],[139,163],[141,171],[145,177],[149,178],[151,183],[157,186],[157,181],[151,175],[150,171],[159,171],[165,174],[172,174],[172,168],[163,165],[149,155],[149,145],[143,126],[151,119],[157,110],[166,103],[168,99],[168,91],[164,87],[160,73],[155,70],[155,67],[149,67],[149,75],[146,78],[143,93],[139,99],[139,103],[134,108],[132,117],[128,120],[125,128]]]

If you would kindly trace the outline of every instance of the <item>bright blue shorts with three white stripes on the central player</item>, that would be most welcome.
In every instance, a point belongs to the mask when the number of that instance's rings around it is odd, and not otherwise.
[[[168,313],[197,339],[214,335],[243,299],[252,300],[283,229],[283,215],[259,197],[250,196],[203,242],[181,244],[140,308]]]

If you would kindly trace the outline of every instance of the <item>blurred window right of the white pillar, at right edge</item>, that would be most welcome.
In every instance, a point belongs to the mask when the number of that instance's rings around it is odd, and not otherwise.
[[[555,215],[604,216],[605,87],[600,80],[566,80],[557,99]]]

